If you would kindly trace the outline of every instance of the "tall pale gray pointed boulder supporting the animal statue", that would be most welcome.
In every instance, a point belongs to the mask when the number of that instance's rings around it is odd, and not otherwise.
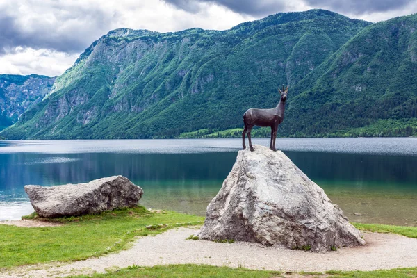
[[[325,252],[365,245],[338,206],[280,151],[242,150],[208,204],[199,237]],[[326,167],[323,165],[323,167]]]

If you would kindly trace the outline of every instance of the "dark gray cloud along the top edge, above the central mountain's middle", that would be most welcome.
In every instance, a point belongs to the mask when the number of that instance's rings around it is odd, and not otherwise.
[[[200,3],[214,3],[233,10],[236,13],[243,13],[253,16],[264,16],[272,13],[279,13],[286,10],[284,0],[163,0],[165,3],[186,10],[190,13],[197,13],[202,6]]]

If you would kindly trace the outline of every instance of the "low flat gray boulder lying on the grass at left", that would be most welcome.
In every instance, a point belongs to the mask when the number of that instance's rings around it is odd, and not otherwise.
[[[137,206],[143,190],[122,176],[65,186],[25,186],[35,211],[43,218],[100,213]]]

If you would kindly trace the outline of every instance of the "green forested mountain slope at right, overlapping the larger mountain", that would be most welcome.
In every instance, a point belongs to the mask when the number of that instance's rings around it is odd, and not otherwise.
[[[293,92],[287,134],[417,134],[417,15],[363,28]]]

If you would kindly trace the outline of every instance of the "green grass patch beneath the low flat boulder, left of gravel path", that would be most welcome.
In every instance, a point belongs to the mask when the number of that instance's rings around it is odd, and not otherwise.
[[[138,206],[97,215],[51,220],[36,214],[26,219],[61,222],[62,226],[26,228],[0,225],[0,268],[49,261],[73,261],[125,249],[136,236],[161,234],[167,229],[202,224],[204,218]]]

